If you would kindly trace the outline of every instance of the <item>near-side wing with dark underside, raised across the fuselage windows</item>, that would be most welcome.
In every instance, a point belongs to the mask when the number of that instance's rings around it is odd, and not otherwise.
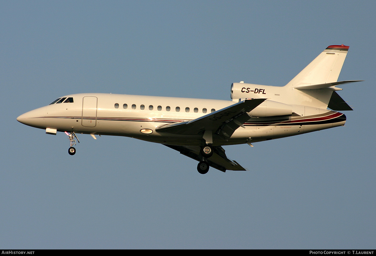
[[[227,139],[231,137],[237,128],[244,127],[243,123],[250,118],[247,112],[253,110],[264,101],[265,99],[245,99],[190,121],[161,125],[155,131],[185,135],[212,131],[212,134],[217,134]]]

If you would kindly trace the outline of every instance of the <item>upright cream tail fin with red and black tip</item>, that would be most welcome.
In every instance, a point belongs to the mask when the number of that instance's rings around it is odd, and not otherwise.
[[[330,45],[286,86],[297,87],[336,82],[349,46]]]

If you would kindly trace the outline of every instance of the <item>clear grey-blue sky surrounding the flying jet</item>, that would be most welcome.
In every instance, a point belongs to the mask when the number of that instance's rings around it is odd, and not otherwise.
[[[2,1],[2,248],[374,248],[374,1]],[[206,175],[163,145],[16,121],[70,93],[230,99],[349,45],[346,126],[226,154]],[[371,116],[370,116],[371,115]]]

